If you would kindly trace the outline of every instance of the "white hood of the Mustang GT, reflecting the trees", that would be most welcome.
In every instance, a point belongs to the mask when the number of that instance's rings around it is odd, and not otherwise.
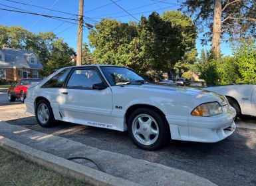
[[[184,99],[191,100],[198,105],[205,102],[219,102],[221,106],[227,104],[225,96],[222,96],[221,94],[217,94],[215,92],[201,90],[198,88],[166,86],[161,84],[142,84],[142,86],[137,87],[143,88],[150,92],[159,93],[159,96],[161,96],[162,94],[181,96],[184,97]]]

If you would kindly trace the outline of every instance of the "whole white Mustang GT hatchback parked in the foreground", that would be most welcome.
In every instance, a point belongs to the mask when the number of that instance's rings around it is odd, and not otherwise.
[[[170,139],[216,142],[235,130],[225,96],[195,88],[149,84],[130,68],[72,66],[29,88],[27,112],[43,127],[55,120],[126,131],[142,149]]]

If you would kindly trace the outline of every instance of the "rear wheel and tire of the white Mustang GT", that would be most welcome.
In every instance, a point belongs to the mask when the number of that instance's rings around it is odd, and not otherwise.
[[[37,123],[43,128],[50,128],[55,124],[53,110],[46,100],[39,100],[39,102],[37,102],[35,116]]]

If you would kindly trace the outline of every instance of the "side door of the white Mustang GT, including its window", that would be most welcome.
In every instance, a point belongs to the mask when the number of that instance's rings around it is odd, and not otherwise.
[[[59,104],[63,120],[76,124],[112,128],[112,91],[106,86],[96,90],[94,84],[105,83],[97,68],[74,68],[61,92]]]

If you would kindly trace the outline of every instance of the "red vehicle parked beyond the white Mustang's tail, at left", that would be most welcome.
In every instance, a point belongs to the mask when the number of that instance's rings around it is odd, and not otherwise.
[[[24,102],[27,89],[31,86],[32,82],[41,82],[41,79],[20,79],[11,84],[8,88],[8,98],[10,102],[15,102],[16,99],[21,98],[21,102]]]

